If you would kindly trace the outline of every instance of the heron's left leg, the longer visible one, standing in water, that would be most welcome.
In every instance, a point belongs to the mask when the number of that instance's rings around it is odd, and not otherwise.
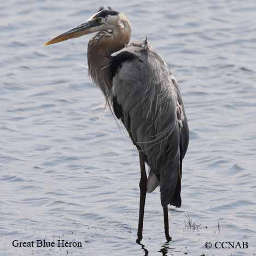
[[[145,161],[142,153],[139,153],[139,164],[141,165],[141,180],[139,181],[139,189],[141,193],[139,198],[139,222],[137,232],[138,238],[136,240],[137,243],[141,242],[142,240],[144,208],[147,193],[147,174],[145,169]]]

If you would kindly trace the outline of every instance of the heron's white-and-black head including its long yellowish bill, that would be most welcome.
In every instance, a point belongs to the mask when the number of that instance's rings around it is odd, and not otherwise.
[[[108,7],[108,9],[101,7],[100,10],[98,10],[97,13],[91,16],[91,18],[89,18],[86,22],[60,34],[44,45],[60,43],[71,38],[82,37],[86,34],[95,33],[102,30],[111,30],[113,33],[115,33],[115,31],[125,29],[127,26],[130,28],[129,21],[125,15],[119,13],[118,11],[112,10],[110,7]]]

